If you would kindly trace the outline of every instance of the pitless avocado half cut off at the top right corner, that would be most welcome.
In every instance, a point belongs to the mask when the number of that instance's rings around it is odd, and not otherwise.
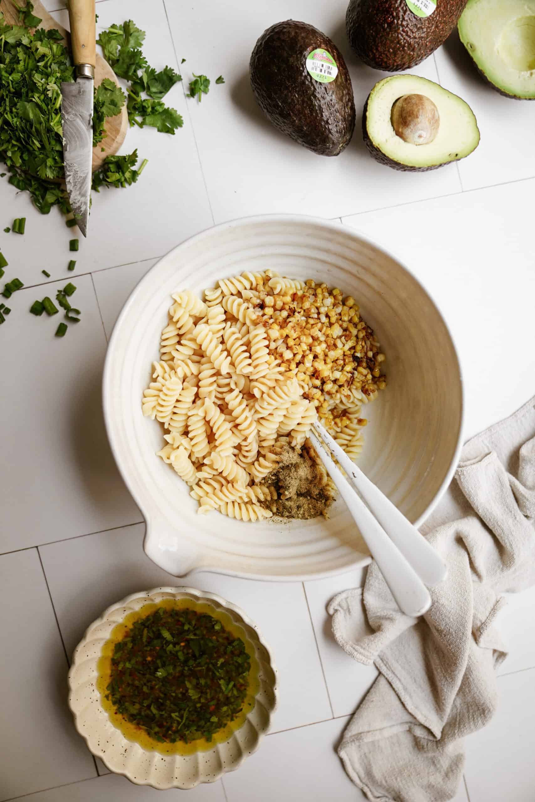
[[[468,0],[457,28],[494,89],[535,100],[535,0]]]

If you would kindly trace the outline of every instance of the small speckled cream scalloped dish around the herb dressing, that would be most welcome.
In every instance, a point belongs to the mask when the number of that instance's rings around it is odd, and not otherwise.
[[[144,605],[162,599],[188,599],[194,605],[209,606],[213,614],[225,617],[230,626],[249,645],[257,663],[257,682],[253,707],[245,721],[229,738],[220,743],[202,743],[192,754],[162,754],[155,744],[149,751],[125,737],[111,722],[104,709],[99,689],[99,660],[103,646],[117,624]],[[239,631],[241,630],[241,631]],[[117,602],[87,628],[75,649],[69,671],[69,706],[75,726],[86,740],[93,755],[99,757],[111,772],[128,777],[132,783],[152,788],[193,788],[199,783],[213,783],[225,772],[233,772],[258,747],[270,728],[270,719],[277,707],[277,674],[270,652],[262,642],[257,627],[239,607],[215,593],[194,588],[155,588],[145,593],[132,593]]]

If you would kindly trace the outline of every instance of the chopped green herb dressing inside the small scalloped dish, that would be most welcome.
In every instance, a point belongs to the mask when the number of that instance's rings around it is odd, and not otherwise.
[[[156,741],[211,741],[241,712],[250,667],[217,618],[158,607],[116,642],[106,698]]]

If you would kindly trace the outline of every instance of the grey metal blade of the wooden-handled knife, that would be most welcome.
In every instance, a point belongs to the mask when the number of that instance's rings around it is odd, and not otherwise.
[[[76,222],[87,237],[93,159],[94,80],[80,77],[62,83],[63,163],[65,184]]]

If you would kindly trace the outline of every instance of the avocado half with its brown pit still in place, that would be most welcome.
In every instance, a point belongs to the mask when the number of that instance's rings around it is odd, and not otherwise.
[[[395,170],[435,170],[464,159],[480,141],[464,100],[417,75],[391,75],[371,90],[363,111],[371,156]]]

